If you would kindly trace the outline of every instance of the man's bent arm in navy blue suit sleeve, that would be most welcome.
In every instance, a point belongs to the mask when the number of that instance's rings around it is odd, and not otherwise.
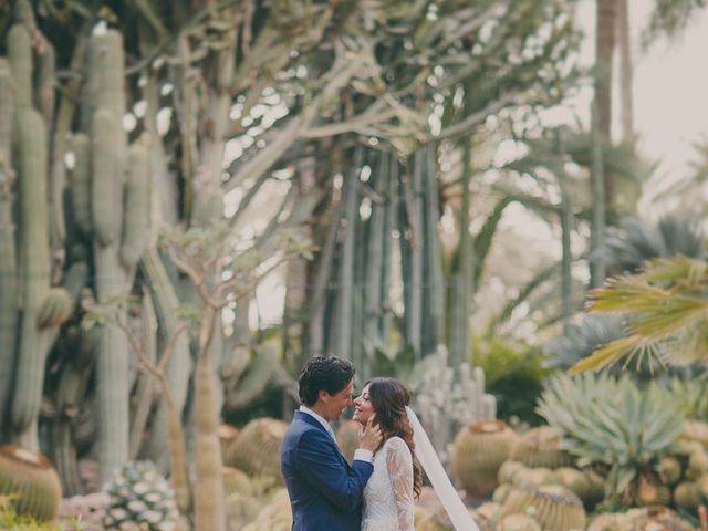
[[[295,457],[298,472],[331,504],[353,511],[362,504],[364,486],[374,466],[355,460],[351,468],[345,467],[324,437],[314,430],[302,435]]]

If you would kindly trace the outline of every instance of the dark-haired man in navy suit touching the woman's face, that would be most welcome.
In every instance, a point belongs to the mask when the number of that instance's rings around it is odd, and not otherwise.
[[[372,416],[350,466],[329,424],[352,405],[354,365],[335,356],[311,357],[299,383],[302,405],[280,451],[292,531],[360,531],[363,491],[374,471],[381,430],[372,425]]]

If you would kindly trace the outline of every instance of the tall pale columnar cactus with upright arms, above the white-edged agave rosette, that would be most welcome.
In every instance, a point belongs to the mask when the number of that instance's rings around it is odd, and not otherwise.
[[[82,125],[91,138],[92,180],[86,186],[83,174],[86,146],[79,136],[76,168],[81,178],[74,194],[79,198],[82,230],[92,230],[100,303],[129,293],[148,227],[145,146],[138,144],[127,149],[122,125],[125,113],[123,64],[119,32],[110,30],[91,38]],[[90,223],[86,188],[91,194]],[[131,219],[127,212],[131,212]],[[113,324],[104,325],[97,353],[98,458],[103,479],[128,459],[128,355],[124,333]]]

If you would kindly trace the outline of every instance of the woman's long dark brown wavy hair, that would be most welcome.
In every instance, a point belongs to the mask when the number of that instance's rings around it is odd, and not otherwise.
[[[366,385],[368,385],[368,398],[376,412],[375,421],[381,426],[383,435],[381,446],[392,437],[400,437],[410,449],[410,455],[413,456],[413,491],[418,498],[423,488],[423,471],[416,457],[413,428],[406,414],[406,406],[410,405],[410,391],[396,378],[372,378]]]

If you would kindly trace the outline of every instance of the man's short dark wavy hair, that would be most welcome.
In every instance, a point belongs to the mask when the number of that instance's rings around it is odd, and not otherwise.
[[[300,403],[313,406],[321,391],[336,395],[354,378],[352,362],[336,356],[313,356],[300,372]]]

